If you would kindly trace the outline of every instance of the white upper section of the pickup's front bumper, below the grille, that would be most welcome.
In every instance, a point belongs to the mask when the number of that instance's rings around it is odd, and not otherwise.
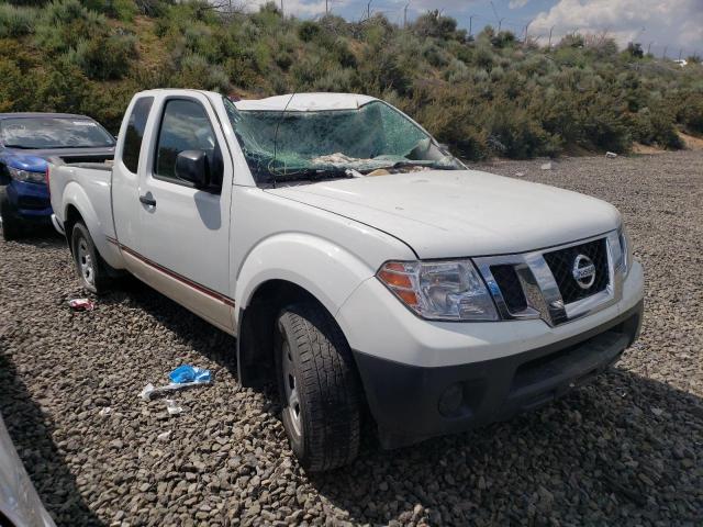
[[[403,365],[436,368],[517,355],[580,335],[634,307],[643,298],[643,288],[641,266],[635,264],[624,282],[621,302],[549,327],[540,319],[423,321],[390,296],[373,278],[355,291],[336,319],[353,349]]]

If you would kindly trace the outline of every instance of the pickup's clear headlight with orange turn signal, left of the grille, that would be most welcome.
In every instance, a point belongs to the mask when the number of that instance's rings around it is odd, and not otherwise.
[[[495,305],[471,260],[389,261],[378,279],[423,318],[498,321]]]

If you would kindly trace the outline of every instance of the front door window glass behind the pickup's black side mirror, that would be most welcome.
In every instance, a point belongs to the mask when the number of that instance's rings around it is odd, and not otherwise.
[[[196,101],[171,99],[164,106],[154,176],[183,183],[176,177],[176,157],[183,150],[203,150],[211,187],[213,190],[222,187],[222,156],[205,110]]]

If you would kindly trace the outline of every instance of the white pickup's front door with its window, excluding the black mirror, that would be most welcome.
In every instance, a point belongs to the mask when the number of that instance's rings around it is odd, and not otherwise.
[[[155,98],[140,167],[140,231],[132,271],[212,324],[234,330],[230,293],[232,158],[209,99],[201,93]],[[210,184],[176,176],[185,150],[205,154]],[[129,253],[129,251],[127,251]]]

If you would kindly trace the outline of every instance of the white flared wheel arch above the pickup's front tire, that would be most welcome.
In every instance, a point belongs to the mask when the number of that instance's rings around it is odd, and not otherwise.
[[[334,316],[375,272],[372,266],[332,240],[304,233],[277,234],[247,255],[234,282],[235,302],[246,309],[259,285],[286,280],[306,290]]]

